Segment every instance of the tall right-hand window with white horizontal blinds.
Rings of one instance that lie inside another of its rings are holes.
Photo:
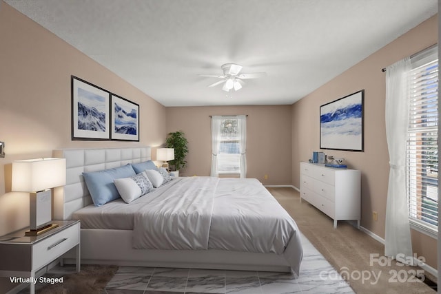
[[[438,232],[438,50],[411,58],[407,194],[414,228]]]

